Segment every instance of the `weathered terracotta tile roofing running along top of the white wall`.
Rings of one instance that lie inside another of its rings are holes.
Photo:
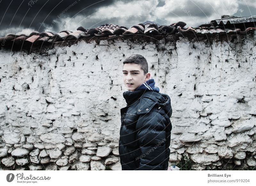
[[[241,21],[244,21],[241,23]],[[212,34],[246,34],[248,31],[256,30],[256,18],[236,18],[225,17],[223,19],[212,20],[210,24],[200,25],[199,27],[186,27],[186,23],[178,21],[171,25],[160,25],[145,22],[145,25],[140,23],[128,28],[125,26],[118,26],[116,24],[104,24],[99,27],[90,28],[78,27],[76,31],[63,30],[59,33],[53,32],[32,32],[31,34],[14,35],[9,34],[5,37],[0,37],[0,43],[5,43],[4,46],[24,47],[28,45],[34,47],[43,43],[53,43],[57,41],[80,40],[86,37],[132,37],[132,35],[212,35]],[[29,44],[30,43],[30,44]]]

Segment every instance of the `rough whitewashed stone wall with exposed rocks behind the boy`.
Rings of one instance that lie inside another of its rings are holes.
[[[171,97],[170,165],[186,155],[197,170],[255,166],[255,33],[198,40],[79,41],[29,55],[4,50],[1,169],[121,169],[122,61],[136,53]]]

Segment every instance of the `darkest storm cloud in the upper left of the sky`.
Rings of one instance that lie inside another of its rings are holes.
[[[73,17],[78,12],[79,15],[88,16],[97,8],[113,2],[114,0],[1,0],[0,29],[22,26],[42,32],[58,16]]]

